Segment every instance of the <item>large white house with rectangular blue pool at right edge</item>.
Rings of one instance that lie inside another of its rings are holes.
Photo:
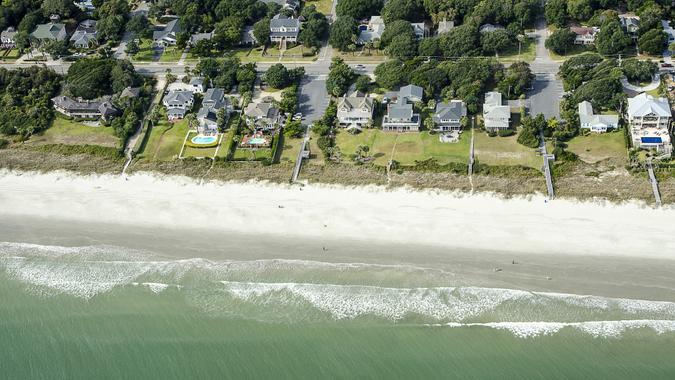
[[[629,98],[628,124],[633,146],[672,153],[670,118],[670,104],[666,98],[655,98],[647,93]]]

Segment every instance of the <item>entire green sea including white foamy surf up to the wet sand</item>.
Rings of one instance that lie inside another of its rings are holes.
[[[668,302],[444,287],[404,266],[0,252],[6,379],[675,378]]]

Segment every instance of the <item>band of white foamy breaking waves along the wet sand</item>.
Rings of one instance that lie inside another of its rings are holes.
[[[0,275],[41,296],[90,299],[136,289],[156,297],[182,297],[206,313],[269,322],[375,320],[485,327],[521,338],[568,329],[595,337],[641,328],[675,332],[672,302],[436,286],[453,284],[454,275],[405,265],[169,260],[122,247],[0,243]]]

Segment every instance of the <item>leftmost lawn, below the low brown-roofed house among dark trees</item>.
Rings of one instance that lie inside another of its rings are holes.
[[[111,127],[93,127],[80,122],[56,117],[52,126],[40,135],[31,137],[31,143],[101,145],[116,147],[119,139]]]

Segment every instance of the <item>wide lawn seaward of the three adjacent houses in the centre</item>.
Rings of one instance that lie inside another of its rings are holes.
[[[367,145],[375,164],[386,165],[392,158],[402,165],[414,165],[415,161],[435,158],[439,164],[467,162],[471,135],[462,133],[458,143],[441,143],[437,134],[389,133],[379,129],[366,129],[358,135],[340,131],[336,143],[345,159],[355,154],[359,145]]]

